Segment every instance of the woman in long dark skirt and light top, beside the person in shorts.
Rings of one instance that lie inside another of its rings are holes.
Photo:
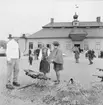
[[[39,71],[44,73],[45,76],[46,76],[46,73],[50,72],[50,64],[48,62],[47,48],[43,48],[42,49],[42,59],[40,61]]]

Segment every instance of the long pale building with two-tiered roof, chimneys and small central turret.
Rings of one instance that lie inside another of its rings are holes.
[[[72,22],[54,22],[51,18],[50,23],[40,31],[28,37],[23,35],[19,44],[21,51],[27,52],[29,48],[36,49],[40,43],[49,44],[52,48],[55,40],[60,43],[60,48],[66,54],[71,52],[74,46],[99,52],[103,50],[103,22],[100,17],[97,17],[96,21],[79,21],[76,13]]]

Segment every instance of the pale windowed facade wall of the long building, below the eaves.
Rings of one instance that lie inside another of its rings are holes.
[[[28,39],[27,42],[25,39],[19,40],[20,51],[22,53],[28,53],[29,42],[33,42],[34,51],[38,47],[38,43],[51,44],[53,50],[53,41],[58,41],[60,43],[60,49],[66,55],[71,54],[74,42],[71,39]],[[76,42],[75,42],[76,43]],[[78,43],[77,43],[78,44]],[[89,49],[93,49],[96,52],[96,55],[99,54],[100,50],[103,50],[103,39],[84,39],[80,42],[80,46],[84,49],[85,45],[88,45]],[[24,52],[25,51],[25,52]]]

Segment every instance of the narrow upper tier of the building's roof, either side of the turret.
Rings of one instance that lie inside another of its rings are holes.
[[[103,26],[103,22],[79,22],[78,27],[95,27],[95,26]],[[49,28],[49,27],[73,27],[72,22],[54,22],[54,23],[49,23],[43,28]]]

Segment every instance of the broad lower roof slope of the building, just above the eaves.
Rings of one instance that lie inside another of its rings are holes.
[[[73,28],[44,28],[27,38],[67,38],[72,29]],[[78,32],[81,31],[81,29],[82,28],[77,28]],[[81,32],[86,32],[86,37],[103,37],[103,28],[84,28]]]

